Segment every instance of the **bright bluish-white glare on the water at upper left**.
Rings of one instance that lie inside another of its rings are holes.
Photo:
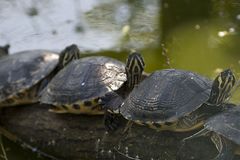
[[[79,44],[87,49],[108,48],[113,45],[116,33],[103,33],[98,30],[86,29],[81,18],[85,10],[77,11],[77,5],[88,3],[75,3],[75,1],[41,1],[33,5],[33,1],[6,2],[0,16],[2,31],[0,43],[10,43],[11,51],[24,49],[60,49],[71,43]],[[88,9],[92,5],[87,5]],[[37,15],[30,10],[35,8]],[[83,7],[80,7],[83,8]],[[84,33],[76,33],[75,26],[82,25]],[[98,36],[96,36],[98,35]]]

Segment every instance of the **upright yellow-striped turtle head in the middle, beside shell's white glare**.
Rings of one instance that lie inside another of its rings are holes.
[[[137,53],[136,51],[132,51],[127,58],[125,67],[127,74],[127,84],[129,88],[133,88],[141,81],[144,66],[145,63],[141,54]]]

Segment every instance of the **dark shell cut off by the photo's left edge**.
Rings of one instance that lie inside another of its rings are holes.
[[[47,50],[31,50],[0,59],[0,102],[31,88],[51,73],[59,55]]]

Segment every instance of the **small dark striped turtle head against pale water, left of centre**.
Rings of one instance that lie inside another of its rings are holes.
[[[67,64],[69,64],[71,61],[79,59],[80,58],[80,51],[77,47],[77,45],[72,44],[70,46],[67,46],[61,53],[59,57],[59,69],[62,69]]]

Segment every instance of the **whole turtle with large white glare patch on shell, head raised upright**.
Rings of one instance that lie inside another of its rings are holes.
[[[60,71],[44,89],[40,102],[54,107],[50,112],[100,115],[99,99],[109,92],[122,96],[141,80],[142,56],[134,51],[126,65],[105,56],[90,56],[72,62]],[[135,81],[132,81],[134,77]]]

